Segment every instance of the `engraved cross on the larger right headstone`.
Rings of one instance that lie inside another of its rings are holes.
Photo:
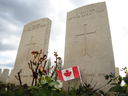
[[[84,36],[84,48],[83,48],[83,50],[84,50],[84,56],[85,55],[88,55],[87,54],[87,35],[89,35],[89,34],[93,34],[93,33],[96,33],[96,31],[91,31],[91,32],[89,32],[88,31],[88,29],[87,29],[87,24],[84,24],[84,31],[83,31],[83,33],[80,33],[80,34],[77,34],[76,35],[76,37],[78,37],[78,36]]]

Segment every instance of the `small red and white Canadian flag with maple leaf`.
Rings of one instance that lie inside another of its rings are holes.
[[[59,70],[59,71],[57,71],[57,74],[61,81],[67,81],[67,80],[71,80],[71,79],[80,77],[80,72],[79,72],[78,66],[68,68],[68,69]]]

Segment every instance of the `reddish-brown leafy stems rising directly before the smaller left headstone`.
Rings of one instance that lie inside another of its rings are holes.
[[[46,69],[45,69],[45,66],[47,63],[47,55],[44,54],[42,50],[40,50],[40,52],[32,51],[31,54],[34,55],[34,59],[30,60],[30,62],[28,63],[29,68],[32,71],[32,76],[33,76],[31,85],[33,86],[33,83],[35,81],[35,86],[37,86],[38,75],[40,77],[42,77],[42,75],[47,74]],[[41,57],[41,55],[43,55],[43,56]],[[44,61],[44,65],[43,65],[43,61]],[[35,67],[33,67],[33,66],[35,66]],[[43,68],[42,71],[45,74],[42,73],[41,68]]]

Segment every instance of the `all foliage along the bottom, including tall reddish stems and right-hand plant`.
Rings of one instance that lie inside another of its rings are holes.
[[[0,83],[0,96],[113,96],[100,90],[104,86],[95,89],[97,82],[91,86],[92,80],[90,84],[82,81],[77,89],[75,84],[68,92],[55,88],[55,85],[59,85],[56,71],[62,68],[62,61],[61,58],[58,57],[57,52],[54,52],[56,60],[54,61],[55,66],[52,67],[50,62],[47,63],[48,54],[44,54],[42,50],[40,50],[40,52],[33,51],[32,54],[34,55],[34,59],[28,63],[29,68],[32,70],[32,85],[30,87],[28,87],[27,84],[22,85],[20,70],[18,77],[15,76],[19,80],[20,85],[15,86],[10,83]],[[114,96],[128,96],[127,67],[122,68],[122,71],[126,73],[125,77],[121,77],[120,75],[115,76],[115,73],[110,73],[105,76],[105,79],[109,80],[107,84],[112,85],[108,92],[115,92]],[[123,81],[125,84],[121,86]],[[33,86],[34,82],[35,86]]]

